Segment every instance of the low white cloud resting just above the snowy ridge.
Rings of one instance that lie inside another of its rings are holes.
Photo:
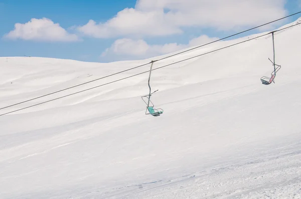
[[[197,38],[193,38],[188,44],[167,43],[163,45],[150,45],[142,39],[130,39],[122,38],[117,39],[109,48],[107,48],[101,56],[126,56],[127,58],[146,58],[152,56],[158,56],[162,54],[168,54],[177,50],[181,50],[196,45],[208,43],[210,41],[217,40],[216,37],[208,37],[207,35],[201,35]]]

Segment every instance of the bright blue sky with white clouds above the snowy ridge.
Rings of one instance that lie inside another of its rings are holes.
[[[0,0],[0,56],[97,62],[140,59],[199,45],[301,10],[301,0],[203,1]],[[16,23],[20,23],[17,29]]]

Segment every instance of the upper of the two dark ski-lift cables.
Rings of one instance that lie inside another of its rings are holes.
[[[244,30],[244,31],[235,33],[235,34],[232,34],[232,35],[230,35],[230,36],[226,36],[226,37],[224,37],[224,38],[221,38],[221,39],[218,39],[218,40],[215,40],[215,41],[212,41],[212,42],[203,44],[203,45],[199,45],[199,46],[197,46],[197,47],[194,47],[194,48],[191,48],[191,49],[188,49],[188,50],[184,50],[184,51],[182,51],[182,52],[178,52],[178,53],[175,53],[175,54],[172,54],[172,55],[163,57],[163,58],[158,59],[158,60],[156,60],[156,61],[160,61],[160,60],[163,60],[163,59],[166,59],[166,58],[170,58],[170,57],[173,57],[173,56],[182,54],[182,53],[184,53],[184,52],[188,52],[188,51],[190,51],[190,50],[197,49],[197,48],[203,47],[203,46],[205,46],[205,45],[209,45],[209,44],[212,44],[212,43],[214,43],[214,42],[217,42],[217,41],[220,41],[220,40],[223,40],[223,39],[232,37],[232,36],[236,36],[236,35],[238,35],[238,34],[241,34],[241,33],[244,33],[244,32],[247,32],[247,31],[250,31],[250,30],[253,30],[253,29],[256,29],[256,28],[258,28],[258,27],[262,27],[262,26],[264,26],[264,25],[267,25],[267,24],[270,24],[270,23],[273,23],[273,22],[282,20],[282,19],[284,19],[284,18],[293,16],[293,15],[296,15],[296,14],[299,14],[299,13],[301,13],[301,11],[298,11],[298,12],[295,12],[295,13],[293,13],[293,14],[284,16],[284,17],[282,17],[282,18],[278,18],[278,19],[276,19],[276,20],[273,20],[273,21],[264,23],[264,24],[262,24],[262,25],[258,25],[258,26],[253,27],[253,28],[250,28],[250,29],[247,29],[247,30]],[[152,61],[151,61],[151,62],[152,62]],[[5,108],[8,108],[8,107],[15,106],[15,105],[19,105],[19,104],[21,104],[21,103],[25,103],[25,102],[28,102],[28,101],[32,101],[32,100],[34,100],[34,99],[42,98],[42,97],[45,97],[45,96],[48,96],[48,95],[51,95],[51,94],[55,94],[55,93],[58,93],[58,92],[62,92],[62,91],[64,91],[64,90],[68,90],[68,89],[71,89],[71,88],[74,88],[74,87],[77,87],[77,86],[80,86],[80,85],[84,85],[84,84],[87,84],[87,83],[91,83],[91,82],[93,82],[93,81],[97,81],[97,80],[100,80],[100,79],[103,79],[103,78],[106,78],[106,77],[109,77],[109,76],[113,76],[113,75],[116,75],[116,74],[119,74],[119,73],[122,73],[122,72],[125,72],[125,71],[129,71],[129,70],[138,68],[138,67],[142,67],[142,66],[147,65],[147,64],[149,64],[149,63],[151,63],[151,62],[144,63],[144,64],[141,64],[141,65],[132,67],[132,68],[128,68],[128,69],[126,69],[126,70],[122,70],[122,71],[119,71],[119,72],[116,72],[116,73],[113,73],[113,74],[110,74],[110,75],[106,75],[106,76],[103,76],[103,77],[100,77],[100,78],[97,78],[97,79],[93,79],[93,80],[90,80],[90,81],[87,81],[87,82],[84,82],[84,83],[80,83],[80,84],[77,84],[77,85],[74,85],[74,86],[71,86],[71,87],[67,87],[67,88],[64,88],[64,89],[61,89],[61,90],[58,90],[58,91],[55,91],[55,92],[51,92],[51,93],[44,94],[44,95],[41,95],[41,96],[38,96],[38,97],[35,97],[35,98],[31,98],[31,99],[28,99],[28,100],[25,100],[25,101],[21,101],[21,102],[12,104],[12,105],[8,105],[8,106],[5,106],[5,107],[0,108],[0,110],[1,110],[1,109],[5,109]],[[1,115],[0,115],[0,116],[1,116]]]

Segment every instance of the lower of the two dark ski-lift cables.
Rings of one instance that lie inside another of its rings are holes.
[[[287,29],[287,28],[290,28],[290,27],[293,27],[293,26],[299,25],[299,24],[301,24],[301,23],[296,23],[296,24],[293,24],[293,25],[290,25],[290,26],[288,26],[288,27],[284,27],[284,28],[281,28],[281,29],[278,29],[278,30],[275,30],[275,31],[272,31],[272,32],[281,31],[281,30],[284,30],[284,29]],[[250,40],[254,40],[254,39],[256,39],[256,38],[260,38],[260,37],[266,36],[266,35],[268,35],[268,34],[270,34],[270,33],[271,33],[271,32],[268,32],[268,33],[266,33],[266,34],[263,34],[263,35],[260,35],[260,36],[256,36],[256,37],[254,37],[254,38],[250,38],[250,39],[247,39],[247,40],[238,42],[238,43],[234,43],[234,44],[232,44],[232,45],[228,45],[228,46],[225,46],[225,47],[222,47],[222,48],[219,48],[219,49],[215,49],[215,50],[212,50],[212,51],[203,53],[203,54],[199,54],[199,55],[196,55],[196,56],[193,56],[193,57],[190,57],[190,58],[186,58],[186,59],[183,59],[183,60],[174,62],[174,63],[170,63],[170,64],[167,64],[167,65],[163,65],[163,66],[157,67],[157,68],[152,69],[152,70],[157,70],[157,69],[160,69],[160,68],[163,68],[163,67],[167,67],[167,66],[170,66],[170,65],[173,65],[173,64],[176,64],[176,63],[180,63],[180,62],[183,62],[183,61],[187,61],[187,60],[189,60],[189,59],[193,59],[193,58],[196,58],[196,57],[205,55],[205,54],[209,54],[209,53],[212,53],[212,52],[216,52],[216,51],[225,49],[225,48],[227,48],[227,47],[231,47],[231,46],[238,45],[238,44],[241,44],[241,43],[250,41]],[[94,87],[91,87],[91,88],[87,88],[87,89],[84,89],[84,90],[81,90],[81,91],[78,91],[78,92],[74,92],[74,93],[71,93],[71,94],[67,94],[67,95],[64,95],[64,96],[61,96],[61,97],[57,97],[57,98],[54,98],[54,99],[50,99],[50,100],[48,100],[48,101],[44,101],[44,102],[41,102],[41,103],[37,103],[37,104],[31,105],[31,106],[27,106],[27,107],[24,107],[24,108],[20,108],[20,109],[17,109],[17,110],[13,110],[13,111],[10,111],[10,112],[6,112],[6,113],[3,113],[3,114],[0,114],[0,116],[6,115],[6,114],[9,114],[9,113],[12,113],[12,112],[17,112],[17,111],[20,111],[20,110],[23,110],[23,109],[26,109],[26,108],[30,108],[30,107],[33,107],[33,106],[37,106],[37,105],[40,105],[40,104],[43,104],[43,103],[47,103],[47,102],[50,102],[50,101],[54,101],[54,100],[57,100],[57,99],[61,99],[61,98],[64,98],[64,97],[67,97],[67,96],[71,96],[71,95],[74,95],[74,94],[77,94],[77,93],[80,93],[80,92],[84,92],[84,91],[91,90],[91,89],[94,89],[94,88],[97,88],[97,87],[101,87],[101,86],[104,86],[104,85],[107,85],[107,84],[110,84],[110,83],[114,83],[114,82],[117,82],[117,81],[121,81],[121,80],[124,80],[124,79],[127,79],[127,78],[131,78],[131,77],[134,77],[134,76],[137,76],[137,75],[146,73],[146,72],[149,72],[149,70],[144,71],[144,72],[140,72],[140,73],[137,73],[137,74],[133,74],[133,75],[130,75],[130,76],[121,78],[121,79],[117,79],[117,80],[114,80],[114,81],[110,81],[110,82],[108,82],[108,83],[104,83],[104,84],[101,84],[101,85],[97,85],[97,86],[94,86]]]

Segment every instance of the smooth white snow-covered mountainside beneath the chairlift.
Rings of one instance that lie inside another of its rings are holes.
[[[159,117],[144,114],[148,73],[0,116],[0,198],[301,198],[300,33],[275,34],[275,84],[260,81],[273,69],[271,35],[154,70]],[[0,57],[0,108],[150,60]]]

